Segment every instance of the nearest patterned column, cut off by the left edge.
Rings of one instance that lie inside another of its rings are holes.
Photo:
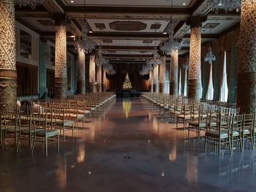
[[[17,99],[14,1],[0,1],[0,107],[13,106]]]

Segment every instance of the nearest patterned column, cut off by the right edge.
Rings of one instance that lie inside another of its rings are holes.
[[[256,110],[256,1],[242,1],[237,104],[241,112]]]

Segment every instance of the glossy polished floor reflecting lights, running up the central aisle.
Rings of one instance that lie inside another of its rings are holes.
[[[117,99],[84,128],[61,140],[61,151],[42,147],[29,154],[7,144],[0,152],[0,191],[256,191],[256,157],[251,149],[233,155],[159,115],[143,99]]]

